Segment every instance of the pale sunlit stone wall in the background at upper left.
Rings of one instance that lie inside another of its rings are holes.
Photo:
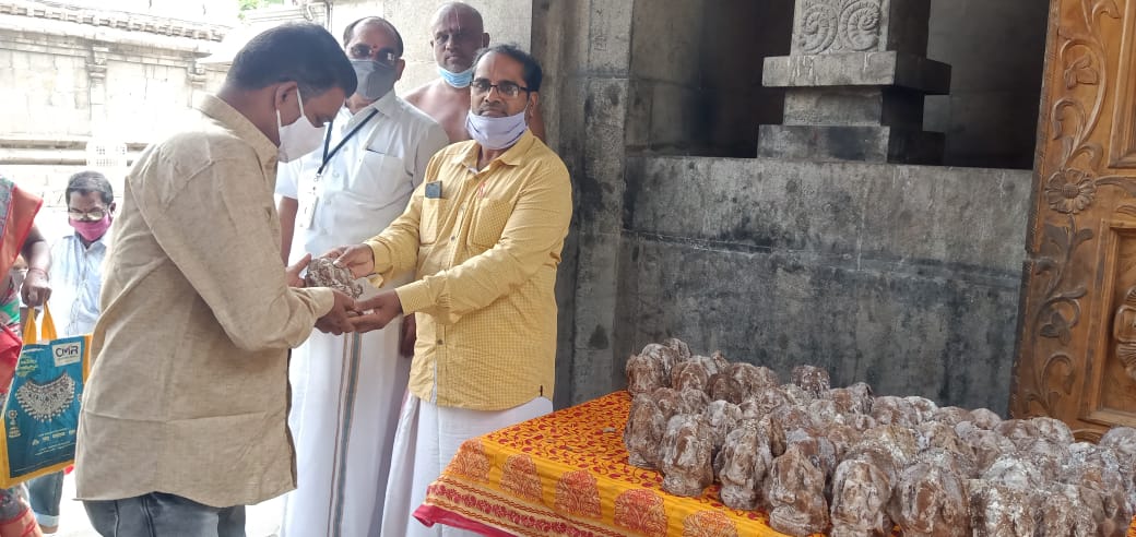
[[[145,25],[151,31],[131,30]],[[136,153],[189,110],[195,92],[220,86],[224,72],[198,59],[223,32],[137,14],[0,5],[0,169],[42,195],[45,215],[65,205],[67,178],[87,168],[89,141]],[[120,188],[125,169],[103,171]]]

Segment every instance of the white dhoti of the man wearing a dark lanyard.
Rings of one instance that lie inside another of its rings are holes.
[[[282,537],[379,535],[410,374],[400,332],[392,322],[361,335],[312,333],[292,352],[298,488],[285,496]]]

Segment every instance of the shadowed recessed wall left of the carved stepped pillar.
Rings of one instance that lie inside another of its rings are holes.
[[[761,58],[788,52],[792,19],[792,0],[637,2],[628,150],[752,156],[784,97],[762,87]]]

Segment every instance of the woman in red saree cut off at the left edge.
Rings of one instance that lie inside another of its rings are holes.
[[[0,356],[0,394],[3,396],[0,404],[11,386],[23,341],[18,335],[20,296],[28,307],[35,307],[51,294],[47,272],[48,244],[34,224],[42,204],[39,196],[0,175],[0,349],[7,350]],[[27,261],[27,276],[17,286],[11,268],[20,253]],[[20,488],[0,489],[0,537],[42,535]]]

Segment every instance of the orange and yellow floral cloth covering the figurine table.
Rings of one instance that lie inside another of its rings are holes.
[[[488,536],[784,535],[765,513],[722,505],[717,485],[674,496],[659,472],[627,464],[629,410],[630,396],[617,392],[470,439],[415,517]]]

